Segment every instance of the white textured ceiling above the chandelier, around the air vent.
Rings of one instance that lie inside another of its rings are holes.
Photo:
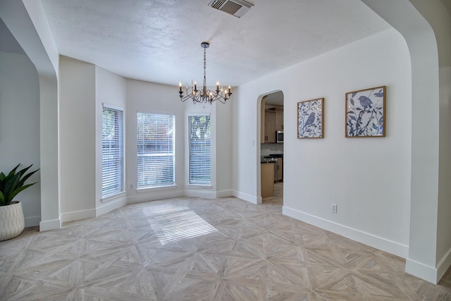
[[[241,85],[390,27],[360,0],[248,0],[235,18],[210,0],[42,0],[61,54],[126,78]]]

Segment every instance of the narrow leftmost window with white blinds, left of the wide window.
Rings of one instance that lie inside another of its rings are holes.
[[[124,189],[123,111],[105,106],[101,129],[101,195],[116,195]]]

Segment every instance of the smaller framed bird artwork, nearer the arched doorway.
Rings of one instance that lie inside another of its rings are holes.
[[[323,98],[297,103],[297,139],[323,137],[323,104]]]

